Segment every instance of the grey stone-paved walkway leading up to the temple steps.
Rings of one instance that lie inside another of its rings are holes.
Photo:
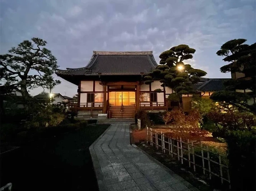
[[[91,146],[100,191],[197,191],[130,145],[129,123],[111,125]]]

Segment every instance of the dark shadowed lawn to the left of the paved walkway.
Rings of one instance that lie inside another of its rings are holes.
[[[97,190],[89,146],[107,127],[88,125],[1,154],[1,187],[11,182],[12,191]]]

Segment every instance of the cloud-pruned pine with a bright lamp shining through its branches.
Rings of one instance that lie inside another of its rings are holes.
[[[183,108],[182,94],[195,92],[192,84],[200,81],[199,77],[207,73],[203,70],[194,69],[191,65],[183,63],[184,60],[193,58],[195,49],[188,45],[181,44],[172,47],[170,50],[162,52],[159,56],[160,65],[155,68],[148,76],[145,76],[145,84],[150,84],[154,80],[160,80],[162,87],[170,87],[175,93],[171,94],[170,99],[178,100],[180,109]],[[161,89],[156,89],[159,92]]]

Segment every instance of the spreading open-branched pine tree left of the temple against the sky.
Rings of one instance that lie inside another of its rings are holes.
[[[28,89],[51,89],[60,83],[52,77],[58,65],[51,51],[43,48],[46,41],[39,38],[31,40],[24,40],[18,47],[13,47],[10,54],[0,55],[1,78],[6,81],[5,86],[21,92],[24,99],[30,97]]]

